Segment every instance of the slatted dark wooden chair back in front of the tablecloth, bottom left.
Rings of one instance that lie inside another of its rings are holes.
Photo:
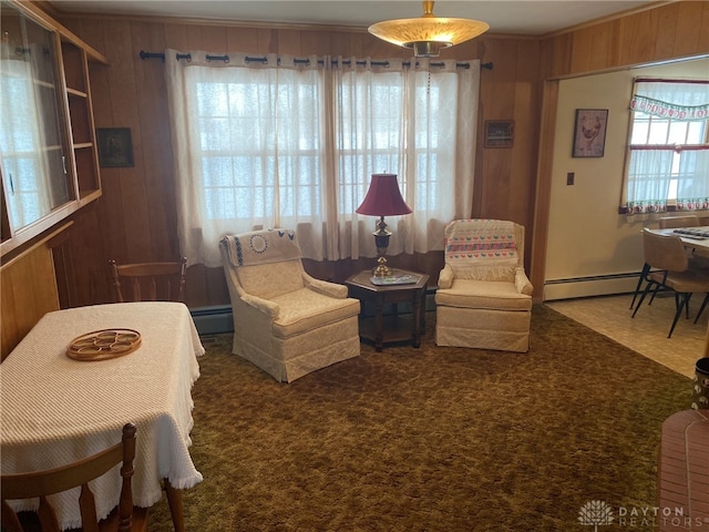
[[[100,529],[96,505],[93,492],[89,488],[89,482],[97,479],[120,463],[122,464],[122,485],[117,510],[117,530],[120,532],[130,531],[133,516],[132,477],[133,460],[135,459],[135,431],[133,423],[126,423],[123,427],[123,436],[120,443],[61,468],[31,473],[3,474],[0,478],[3,530],[22,532],[20,519],[7,501],[39,497],[38,514],[42,532],[59,532],[61,529],[56,513],[50,504],[48,495],[81,487],[79,507],[81,509],[82,530],[84,532],[97,532]]]

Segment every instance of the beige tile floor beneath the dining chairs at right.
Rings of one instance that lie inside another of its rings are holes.
[[[647,301],[631,318],[633,295],[588,297],[545,301],[549,308],[597,330],[619,344],[689,378],[695,376],[695,364],[706,349],[709,307],[697,325],[695,316],[701,297],[690,303],[689,319],[680,318],[671,338],[667,338],[675,315],[675,299],[664,295]]]

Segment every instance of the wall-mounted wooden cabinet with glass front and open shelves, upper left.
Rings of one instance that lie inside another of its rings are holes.
[[[9,31],[12,39],[18,42],[30,39],[48,51],[33,58],[28,68],[31,69],[29,82],[39,99],[38,108],[48,110],[41,115],[42,143],[35,150],[49,172],[28,178],[47,183],[47,191],[37,194],[49,197],[50,205],[37,218],[22,217],[19,209],[13,216],[12,201],[6,194],[10,191],[6,191],[3,184],[0,257],[6,260],[25,253],[30,242],[101,196],[89,62],[93,69],[93,63],[103,65],[107,61],[33,2],[3,0],[1,14],[3,30]],[[3,154],[6,162],[12,156],[18,158],[23,154]]]

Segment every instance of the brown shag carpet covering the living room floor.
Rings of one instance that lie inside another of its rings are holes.
[[[362,345],[290,385],[204,338],[187,530],[584,532],[590,500],[656,505],[689,379],[545,306],[524,355],[436,347],[434,319],[420,349]],[[168,515],[163,499],[150,530]]]

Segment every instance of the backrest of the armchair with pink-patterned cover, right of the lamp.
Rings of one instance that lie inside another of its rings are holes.
[[[456,277],[511,280],[524,267],[524,227],[505,219],[456,219],[445,227],[444,253]]]

